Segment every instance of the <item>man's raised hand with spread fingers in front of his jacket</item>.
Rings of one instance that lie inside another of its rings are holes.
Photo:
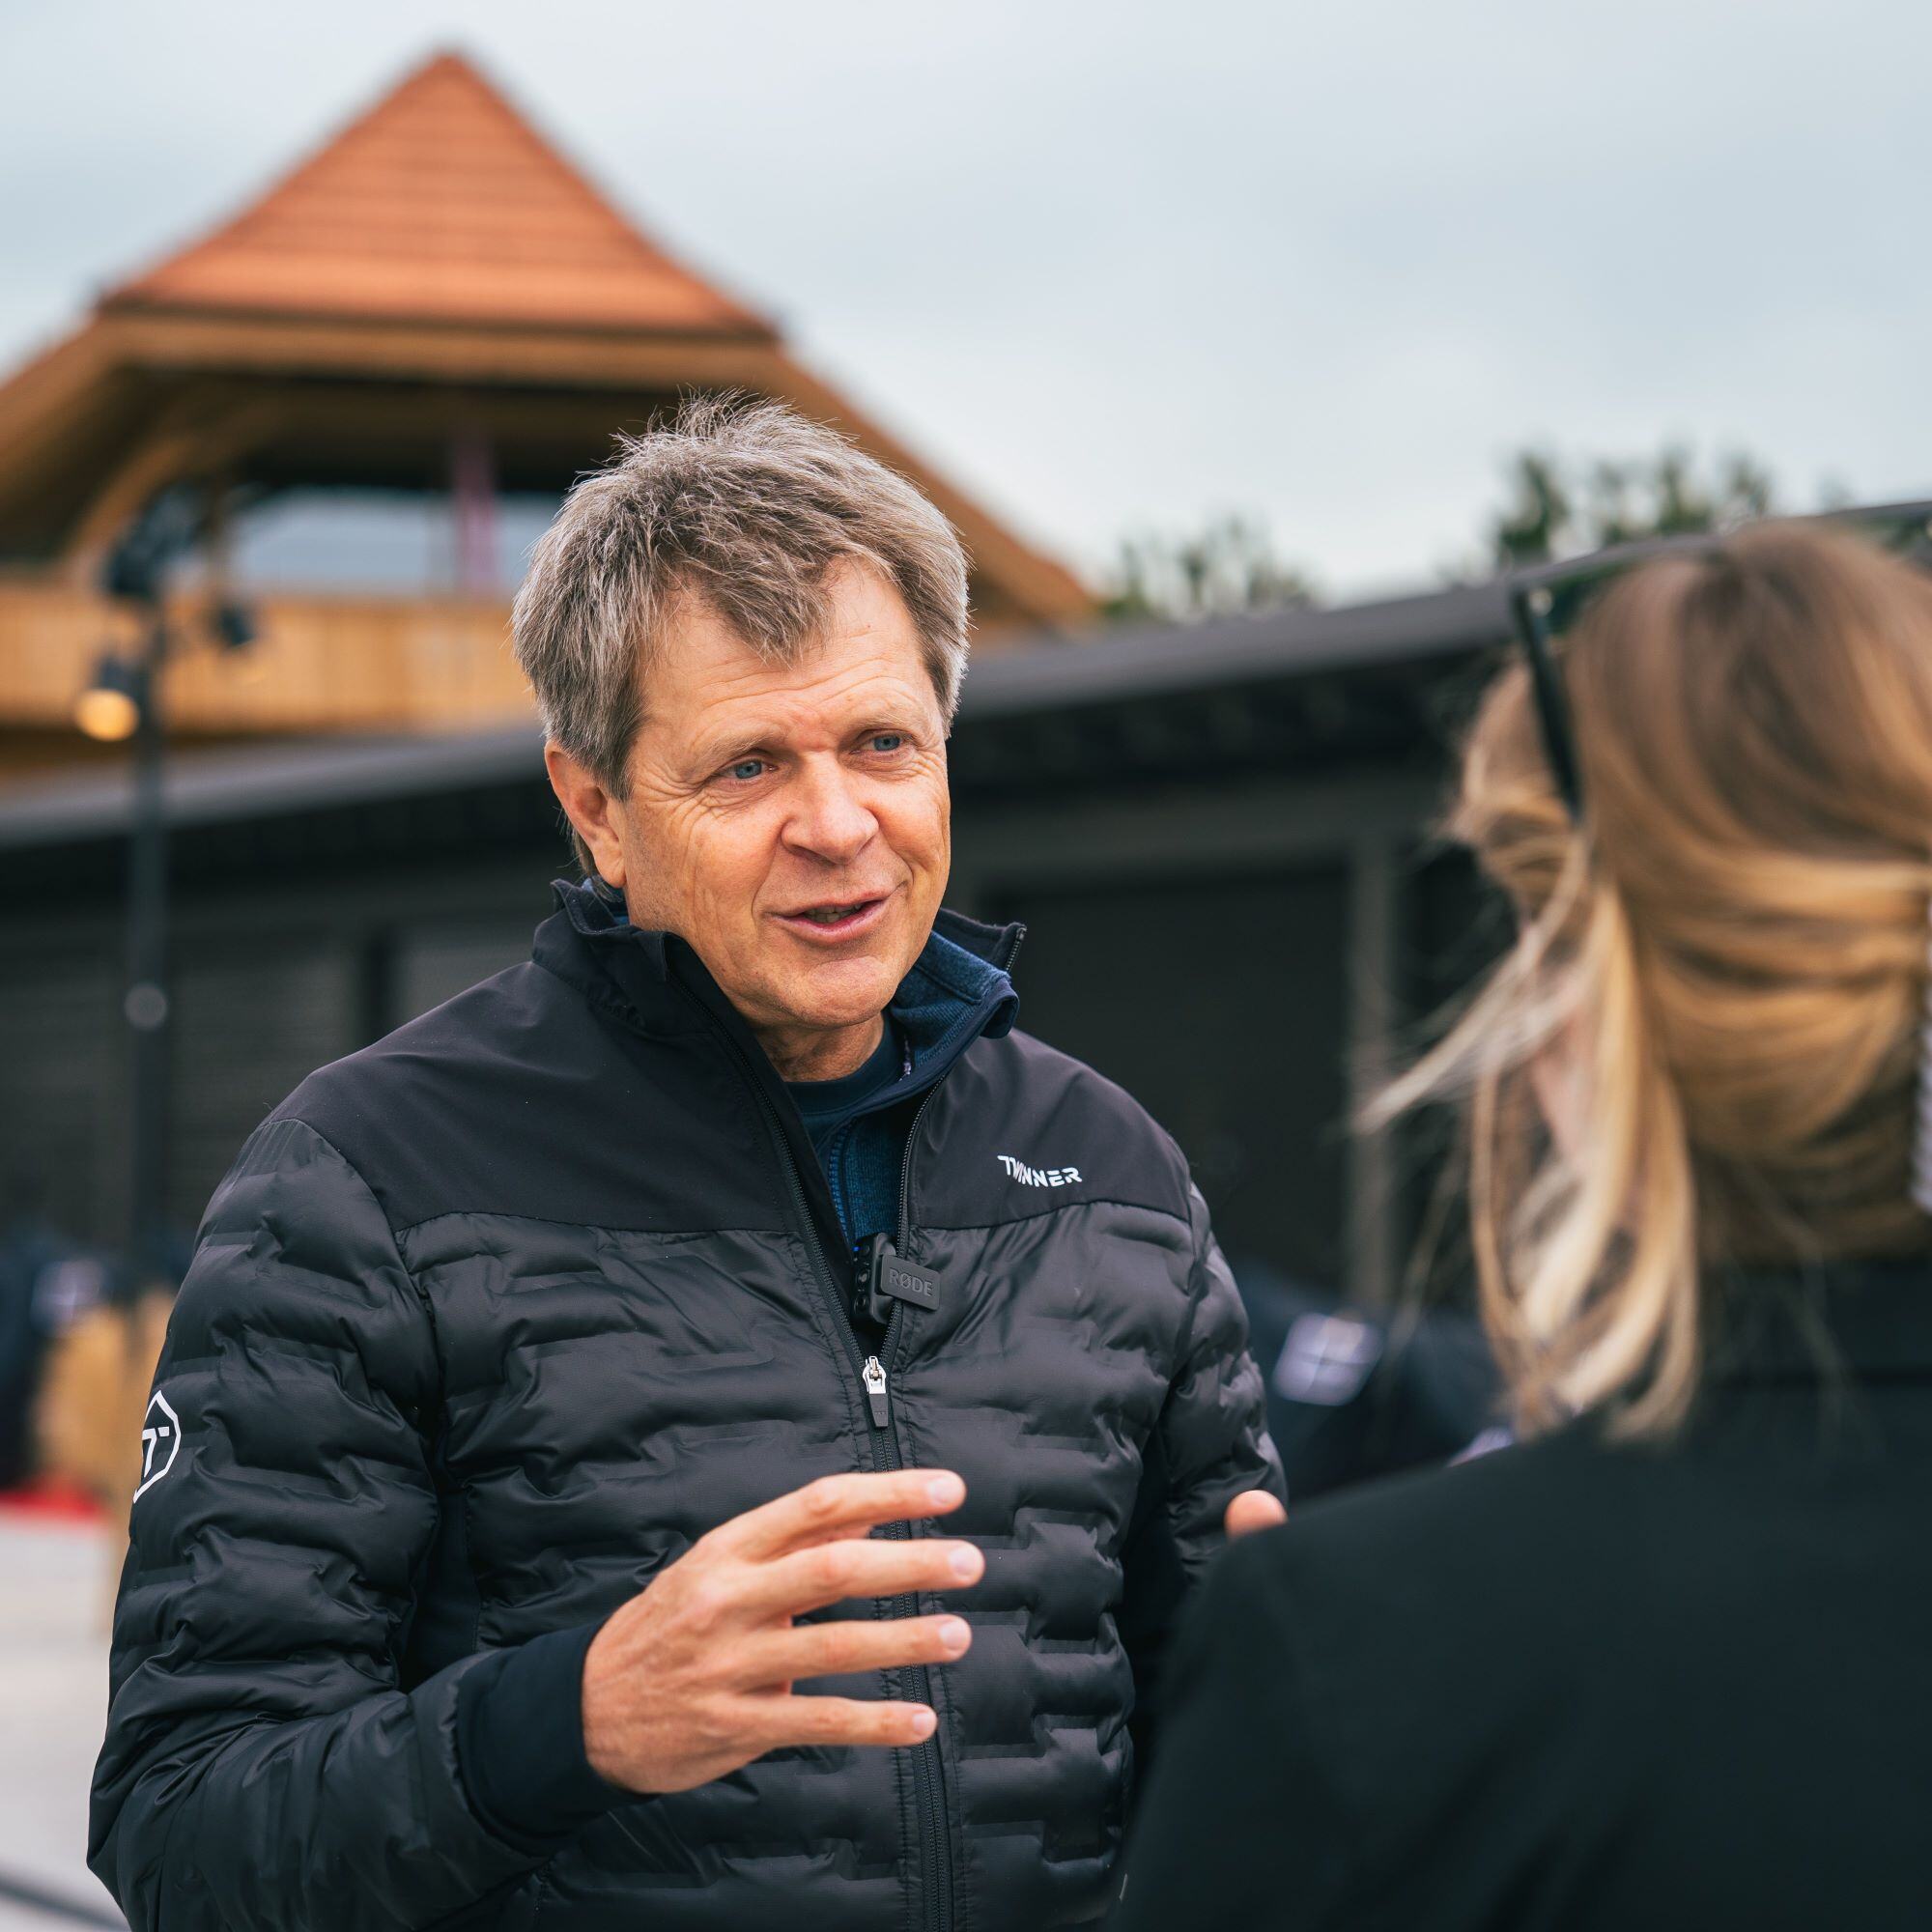
[[[632,1791],[688,1791],[784,1745],[916,1745],[925,1704],[794,1696],[802,1677],[947,1663],[960,1617],[794,1625],[846,1598],[958,1590],[985,1557],[966,1542],[887,1542],[879,1522],[966,1499],[945,1470],[821,1476],[701,1536],[597,1633],[583,1660],[583,1748]]]

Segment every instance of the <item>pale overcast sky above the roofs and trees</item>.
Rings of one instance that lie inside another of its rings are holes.
[[[0,0],[0,357],[442,44],[1088,572],[1424,583],[1532,440],[1932,495],[1924,0]]]

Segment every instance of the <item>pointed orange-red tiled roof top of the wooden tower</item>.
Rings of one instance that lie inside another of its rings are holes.
[[[769,334],[667,257],[460,54],[106,307]]]

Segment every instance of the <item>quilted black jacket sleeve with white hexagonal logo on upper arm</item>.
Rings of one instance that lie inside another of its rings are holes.
[[[535,1859],[454,1754],[468,1658],[396,1658],[437,1519],[427,1304],[381,1204],[299,1121],[242,1151],[156,1374],[114,1615],[89,1862],[135,1932],[487,1922]]]

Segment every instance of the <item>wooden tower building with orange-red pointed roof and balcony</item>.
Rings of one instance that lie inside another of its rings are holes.
[[[0,384],[0,771],[85,753],[99,562],[170,485],[214,506],[184,599],[238,583],[261,622],[245,657],[170,667],[178,734],[527,717],[504,647],[527,541],[616,431],[688,390],[782,398],[918,481],[972,553],[991,647],[1088,616],[1068,570],[444,52]]]

